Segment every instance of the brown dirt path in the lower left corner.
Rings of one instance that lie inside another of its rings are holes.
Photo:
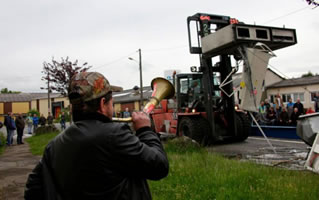
[[[30,153],[26,142],[5,149],[0,156],[0,200],[24,199],[24,186],[28,174],[40,158]]]

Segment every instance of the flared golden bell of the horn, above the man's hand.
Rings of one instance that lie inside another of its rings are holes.
[[[148,114],[151,113],[163,99],[170,99],[174,97],[175,94],[173,84],[164,78],[154,78],[151,82],[151,86],[153,90],[151,99],[143,109],[143,111]]]

